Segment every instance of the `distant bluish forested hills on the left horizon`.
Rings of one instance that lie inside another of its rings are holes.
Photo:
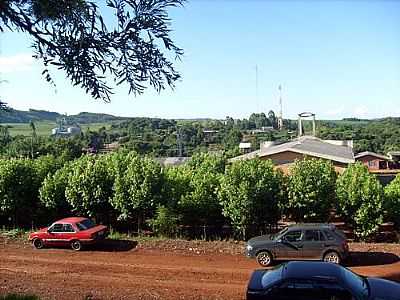
[[[57,112],[46,110],[30,109],[29,111],[11,109],[10,111],[0,110],[0,123],[28,123],[30,121],[53,121],[66,118],[72,123],[103,123],[117,120],[127,120],[128,118],[116,117],[108,114],[98,114],[81,112],[77,115],[65,116]]]

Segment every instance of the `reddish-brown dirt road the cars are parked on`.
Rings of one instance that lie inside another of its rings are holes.
[[[350,267],[400,281],[400,245],[353,244]],[[126,250],[126,249],[125,249]],[[0,244],[0,294],[43,299],[243,299],[253,260],[133,247],[128,251],[34,250]]]

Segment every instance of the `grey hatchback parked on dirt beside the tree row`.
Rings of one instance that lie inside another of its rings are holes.
[[[349,255],[345,235],[331,224],[296,224],[277,234],[254,237],[246,256],[263,266],[274,260],[323,260],[339,264]]]

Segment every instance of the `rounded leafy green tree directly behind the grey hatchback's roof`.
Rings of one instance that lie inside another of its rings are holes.
[[[295,221],[326,221],[334,207],[336,173],[325,160],[297,160],[290,168],[287,202],[282,206]]]

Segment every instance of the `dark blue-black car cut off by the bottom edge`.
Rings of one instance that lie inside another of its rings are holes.
[[[247,300],[400,300],[400,284],[327,262],[291,261],[256,270]]]

